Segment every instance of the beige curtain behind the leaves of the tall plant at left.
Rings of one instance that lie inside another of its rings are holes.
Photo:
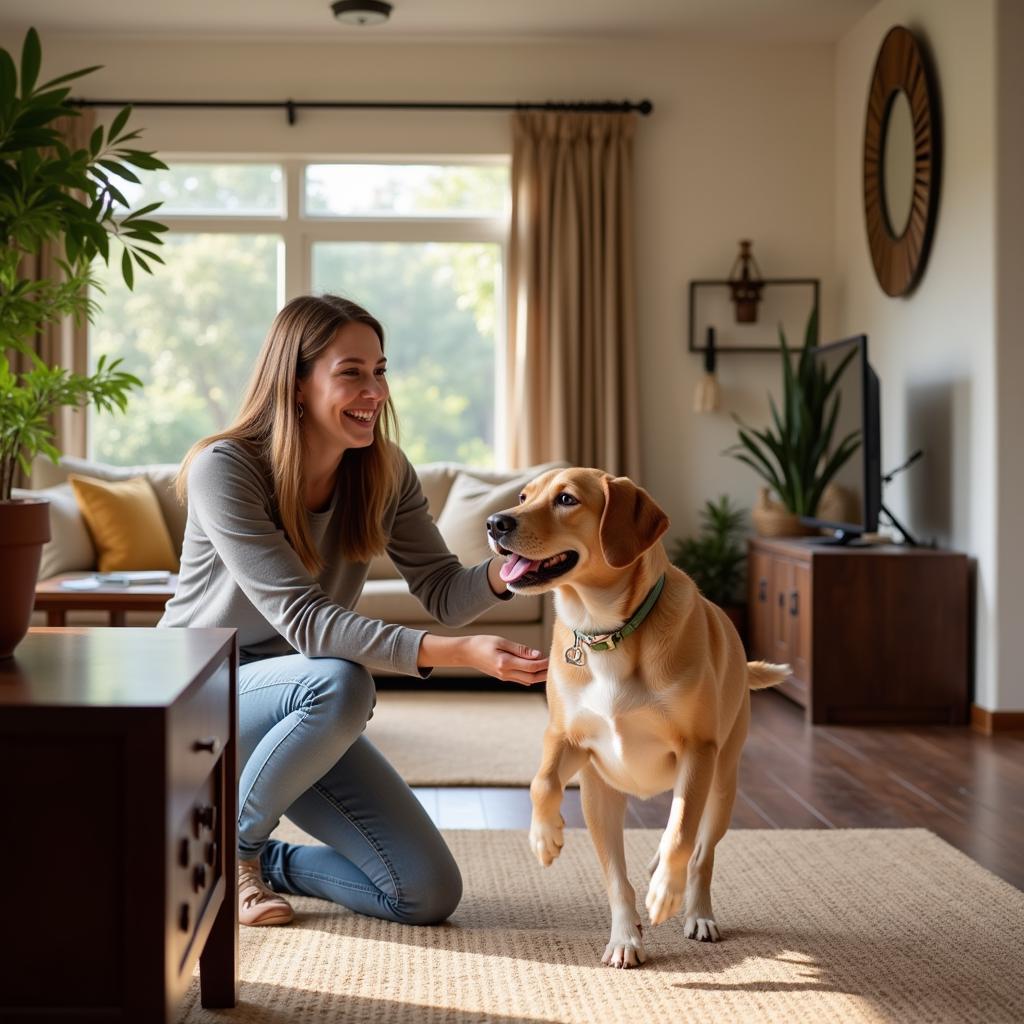
[[[83,109],[77,118],[58,119],[54,127],[63,136],[68,146],[80,150],[88,145],[89,135],[95,127],[96,116],[92,110]],[[61,273],[57,259],[62,255],[62,249],[52,245],[44,245],[35,256],[26,257],[22,262],[22,273],[25,278],[55,278]],[[88,325],[75,324],[66,316],[56,324],[50,324],[36,335],[33,348],[36,354],[50,366],[60,366],[77,374],[88,373]],[[15,372],[31,368],[31,361],[19,353],[9,353],[11,366]],[[63,455],[84,457],[86,454],[86,413],[84,410],[59,409],[53,416],[53,443]],[[20,470],[16,470],[15,486],[25,486],[26,481],[19,479]]]

